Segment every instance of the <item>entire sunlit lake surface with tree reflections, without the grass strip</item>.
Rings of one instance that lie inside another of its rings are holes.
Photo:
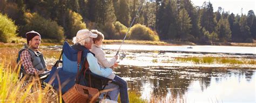
[[[104,45],[106,57],[115,55],[119,46]],[[129,90],[137,91],[142,99],[157,100],[155,102],[256,101],[256,65],[195,64],[174,59],[210,56],[255,60],[255,47],[187,47],[190,46],[123,45],[120,53],[126,57],[118,60],[119,66],[114,71],[128,82]]]

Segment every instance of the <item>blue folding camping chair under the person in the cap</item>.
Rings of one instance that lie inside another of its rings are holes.
[[[84,65],[83,57],[86,57],[86,50],[82,54],[81,65],[79,70],[82,69]],[[59,60],[53,65],[52,70],[50,71],[50,75],[47,79],[44,80],[45,83],[48,83],[53,86],[53,89],[59,90],[59,84],[61,84],[62,94],[68,91],[73,85],[75,85],[75,78],[77,76],[77,54],[78,51],[72,49],[68,42],[64,42],[62,47],[62,53],[60,54]],[[60,60],[62,58],[62,61]],[[59,63],[62,63],[62,67],[59,67]],[[82,64],[83,63],[83,64]],[[105,78],[91,71],[87,70],[85,76],[80,76],[80,85],[90,86],[89,85],[89,73],[91,75],[91,79],[93,80],[91,87],[98,89],[99,91],[104,90],[104,87],[112,81],[112,79]],[[58,75],[59,81],[56,78]],[[83,78],[85,77],[85,78]]]

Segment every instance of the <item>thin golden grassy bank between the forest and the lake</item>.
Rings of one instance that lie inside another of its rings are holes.
[[[72,44],[72,40],[66,40]],[[103,45],[119,45],[123,40],[104,40]],[[2,47],[22,47],[23,42],[20,43],[3,43],[0,42],[0,48]],[[62,45],[62,42],[56,42],[56,40],[43,39],[41,46],[54,46]],[[145,41],[145,40],[125,40],[124,44],[130,45],[159,45],[159,46],[197,46],[197,45],[211,45],[211,46],[244,46],[244,47],[256,47],[256,43],[237,43],[237,42],[212,42],[212,43],[193,43],[188,41]]]

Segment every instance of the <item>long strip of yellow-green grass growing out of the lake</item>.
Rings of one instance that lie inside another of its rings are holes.
[[[229,57],[176,57],[176,61],[193,63],[220,63],[220,64],[256,64],[256,60],[250,58],[229,58]]]

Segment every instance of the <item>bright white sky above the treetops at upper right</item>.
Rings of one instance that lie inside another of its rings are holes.
[[[191,0],[196,6],[202,6],[205,1],[212,3],[214,12],[221,7],[224,11],[230,11],[230,14],[233,12],[241,15],[241,8],[243,14],[247,15],[249,10],[253,10],[254,14],[256,14],[255,0]]]

